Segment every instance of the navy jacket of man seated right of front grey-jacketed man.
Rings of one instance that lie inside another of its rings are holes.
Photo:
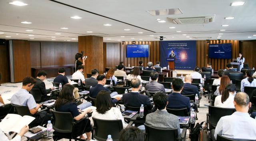
[[[168,97],[168,105],[166,107],[171,109],[182,109],[187,108],[188,112],[190,112],[190,99],[189,97],[185,97],[180,93],[171,93],[167,95]]]

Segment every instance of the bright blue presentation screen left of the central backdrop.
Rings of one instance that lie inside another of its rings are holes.
[[[126,57],[148,57],[148,45],[126,45]]]

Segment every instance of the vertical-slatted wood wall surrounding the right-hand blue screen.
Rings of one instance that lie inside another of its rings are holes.
[[[238,40],[221,40],[220,44],[224,43],[232,43],[232,58],[237,58],[239,54]],[[206,40],[196,41],[196,65],[199,67],[204,67],[208,62],[211,62],[214,70],[225,69],[226,64],[230,63],[232,59],[208,58],[209,44],[218,44],[218,40],[211,40],[210,43],[207,43]]]

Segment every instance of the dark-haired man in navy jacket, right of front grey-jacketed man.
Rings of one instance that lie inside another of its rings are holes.
[[[183,81],[180,78],[176,78],[172,81],[173,93],[168,94],[168,108],[182,109],[187,108],[190,112],[190,99],[180,94],[183,89]]]

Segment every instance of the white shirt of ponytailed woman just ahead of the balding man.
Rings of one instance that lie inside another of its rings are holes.
[[[229,93],[229,97],[228,99],[226,99],[226,101],[224,101],[223,103],[221,102],[221,96],[222,95],[218,95],[215,98],[214,101],[214,106],[215,107],[222,107],[222,108],[235,108],[234,106],[234,95],[232,95],[231,93]]]

